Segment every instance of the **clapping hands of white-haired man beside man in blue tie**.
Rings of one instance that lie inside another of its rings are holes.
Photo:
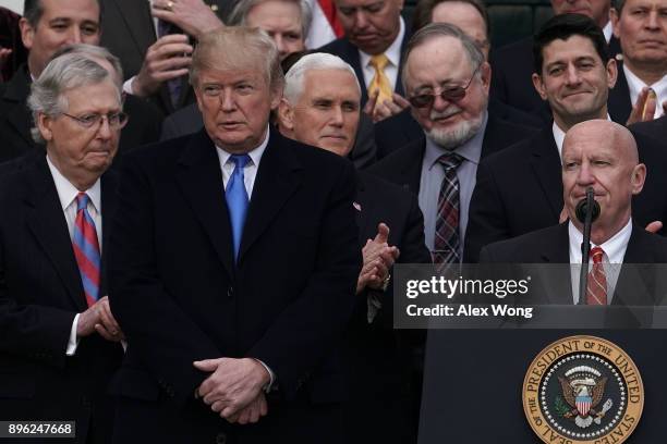
[[[356,294],[364,288],[381,289],[385,280],[389,279],[389,270],[398,259],[398,247],[389,246],[389,227],[380,222],[377,225],[375,238],[367,239],[362,248],[364,263],[356,280]]]

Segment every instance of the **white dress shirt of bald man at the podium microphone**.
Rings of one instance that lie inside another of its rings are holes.
[[[572,221],[568,223],[568,234],[570,237],[570,263],[581,264],[581,244],[583,243],[583,234],[574,226]],[[618,281],[618,274],[620,273],[621,266],[623,264],[623,257],[628,249],[628,243],[630,242],[630,235],[632,234],[632,219],[628,221],[618,233],[602,245],[595,245],[591,243],[591,249],[594,247],[601,247],[605,254],[603,255],[603,268],[605,269],[605,276],[607,279],[607,304],[611,304],[614,297],[614,289],[616,288],[616,282]],[[589,272],[593,267],[589,260]],[[579,303],[579,267],[571,268],[572,276],[572,296],[573,303]]]

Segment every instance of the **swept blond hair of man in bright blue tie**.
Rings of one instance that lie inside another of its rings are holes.
[[[264,65],[269,87],[282,91],[284,75],[276,44],[264,30],[245,26],[226,26],[199,37],[192,54],[190,84],[198,86],[202,70],[245,69],[253,59]]]

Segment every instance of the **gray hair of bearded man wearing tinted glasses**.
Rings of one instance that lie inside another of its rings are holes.
[[[457,25],[452,25],[449,23],[430,23],[423,28],[421,28],[415,35],[412,36],[408,46],[405,47],[405,52],[403,54],[403,70],[401,72],[401,78],[403,82],[403,89],[408,90],[405,85],[405,74],[408,69],[408,60],[410,59],[410,54],[415,48],[426,44],[428,40],[438,37],[453,37],[461,42],[463,50],[465,51],[465,55],[468,57],[468,61],[472,66],[473,71],[477,69],[482,63],[485,62],[484,53],[468,34],[465,34],[460,27]],[[477,71],[476,76],[480,77],[482,75],[481,71]]]

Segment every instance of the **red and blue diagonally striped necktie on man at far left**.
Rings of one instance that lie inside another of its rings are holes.
[[[86,295],[88,307],[99,299],[99,242],[95,221],[88,213],[90,198],[85,193],[76,195],[76,219],[74,220],[74,236],[72,246],[78,264],[81,282]]]

